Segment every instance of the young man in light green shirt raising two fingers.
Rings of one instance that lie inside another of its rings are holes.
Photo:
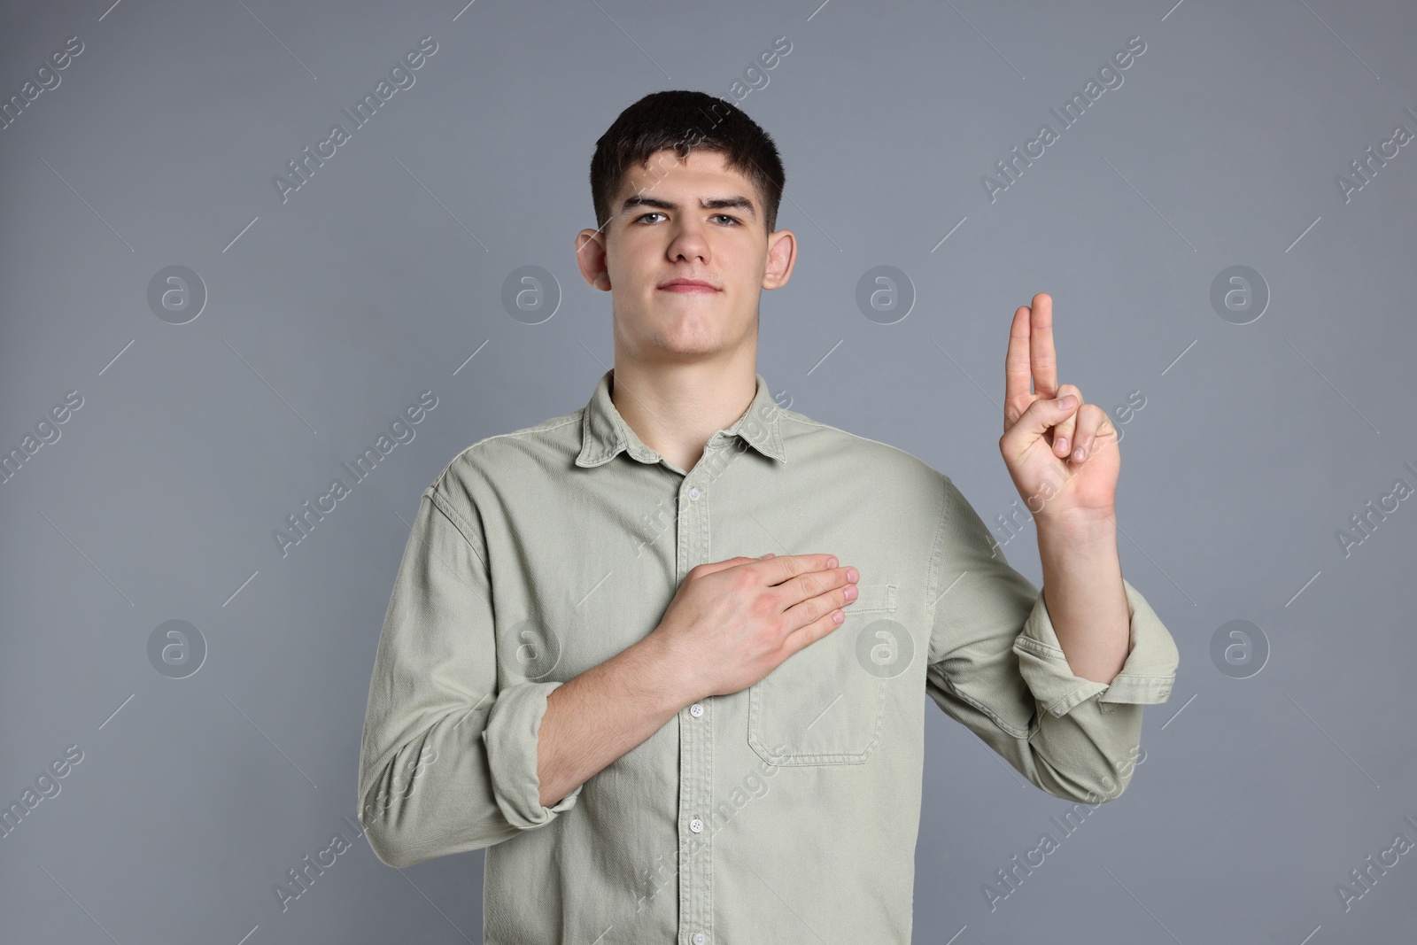
[[[1044,599],[948,476],[774,402],[782,184],[721,99],[621,113],[577,237],[614,368],[424,492],[360,819],[390,866],[486,847],[487,942],[904,945],[925,696],[1101,803],[1170,694],[1176,646],[1118,564],[1115,429],[1057,384],[1049,296],[1015,313],[999,441]]]

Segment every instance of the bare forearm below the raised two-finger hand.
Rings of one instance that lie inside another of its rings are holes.
[[[1057,521],[1039,517],[1043,604],[1076,676],[1111,683],[1127,663],[1131,616],[1111,516]]]

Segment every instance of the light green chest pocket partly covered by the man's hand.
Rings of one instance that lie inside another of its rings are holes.
[[[896,611],[896,585],[856,589],[840,626],[748,689],[748,745],[768,764],[856,765],[880,741],[887,680],[862,630]]]

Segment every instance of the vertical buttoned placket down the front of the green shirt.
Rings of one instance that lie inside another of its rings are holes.
[[[676,587],[708,557],[704,468],[696,465],[679,486]],[[679,713],[679,945],[713,942],[711,810],[713,700],[706,697]]]

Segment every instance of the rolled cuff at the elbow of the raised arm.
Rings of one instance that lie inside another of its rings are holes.
[[[1127,592],[1131,640],[1127,662],[1111,683],[1097,683],[1073,674],[1053,630],[1043,592],[1039,591],[1039,599],[1013,642],[1013,652],[1019,657],[1019,672],[1034,698],[1053,715],[1064,715],[1093,696],[1098,697],[1098,703],[1132,704],[1163,703],[1170,697],[1180,660],[1176,642],[1146,604],[1146,598],[1125,578],[1122,589]]]

